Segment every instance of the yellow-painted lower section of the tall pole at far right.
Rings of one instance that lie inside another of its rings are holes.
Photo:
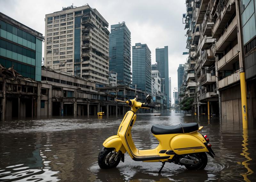
[[[241,86],[241,101],[242,101],[242,116],[243,116],[243,128],[248,128],[247,121],[247,98],[246,98],[246,82],[245,82],[245,73],[240,73],[240,86]]]

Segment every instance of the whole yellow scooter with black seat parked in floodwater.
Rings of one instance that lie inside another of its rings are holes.
[[[140,108],[155,108],[150,106],[151,97],[146,97],[146,103],[131,100],[117,100],[124,102],[131,107],[131,110],[124,115],[117,135],[109,137],[103,143],[103,148],[98,156],[98,164],[102,169],[116,167],[120,161],[124,162],[124,153],[128,152],[135,161],[143,162],[173,162],[185,165],[189,170],[202,170],[207,165],[208,153],[214,158],[212,145],[209,143],[207,135],[202,135],[199,131],[203,126],[198,127],[197,123],[180,123],[175,126],[153,125],[151,132],[159,141],[155,149],[139,150],[132,141],[131,130],[136,120],[136,112]]]

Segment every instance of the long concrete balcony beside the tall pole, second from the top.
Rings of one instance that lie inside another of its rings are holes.
[[[216,51],[224,51],[228,44],[237,37],[236,23],[237,19],[235,17],[217,41]]]

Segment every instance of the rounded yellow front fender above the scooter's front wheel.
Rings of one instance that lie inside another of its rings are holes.
[[[115,148],[116,152],[120,150],[123,154],[126,152],[122,140],[118,135],[110,136],[105,140],[105,142],[103,142],[103,146],[106,148]]]

